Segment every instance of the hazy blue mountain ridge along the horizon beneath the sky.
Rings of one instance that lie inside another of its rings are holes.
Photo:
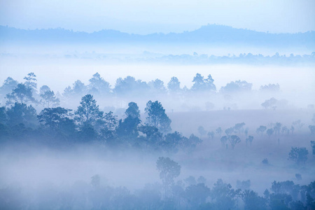
[[[104,29],[87,33],[66,29],[16,29],[0,26],[0,43],[204,43],[208,45],[315,46],[315,31],[297,34],[269,34],[223,25],[207,25],[183,33],[127,34]]]

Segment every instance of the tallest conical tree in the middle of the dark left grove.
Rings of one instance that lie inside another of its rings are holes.
[[[75,119],[81,126],[84,124],[94,126],[97,123],[97,120],[103,118],[103,112],[99,111],[99,106],[96,104],[96,101],[91,94],[82,97],[80,106],[78,106],[75,114]]]

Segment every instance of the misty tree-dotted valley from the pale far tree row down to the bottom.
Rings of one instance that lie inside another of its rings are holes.
[[[6,78],[0,209],[315,209],[314,90],[189,79]]]

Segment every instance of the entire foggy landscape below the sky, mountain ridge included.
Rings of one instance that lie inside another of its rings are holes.
[[[0,209],[315,209],[314,31],[23,28],[0,26]]]

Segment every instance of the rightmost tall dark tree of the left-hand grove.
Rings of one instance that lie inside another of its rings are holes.
[[[148,125],[152,125],[157,127],[163,133],[170,132],[172,120],[169,119],[167,114],[165,113],[165,109],[160,102],[151,102],[149,101],[146,104],[146,120]]]

